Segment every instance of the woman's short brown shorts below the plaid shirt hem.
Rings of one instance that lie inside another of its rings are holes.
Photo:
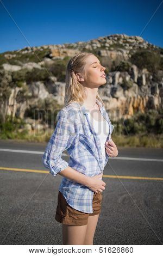
[[[101,213],[102,192],[93,194],[93,212],[78,211],[72,208],[66,201],[65,197],[58,191],[58,205],[55,214],[55,220],[67,225],[86,225],[89,216],[98,215]]]

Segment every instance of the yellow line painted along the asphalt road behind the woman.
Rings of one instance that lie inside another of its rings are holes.
[[[16,172],[30,172],[30,173],[49,173],[48,170],[33,170],[33,169],[21,169],[21,168],[8,168],[0,167],[0,170],[14,170]],[[120,175],[105,175],[103,178],[113,178],[113,179],[135,179],[135,180],[163,180],[163,178],[153,178],[153,177],[139,177],[139,176],[120,176]]]

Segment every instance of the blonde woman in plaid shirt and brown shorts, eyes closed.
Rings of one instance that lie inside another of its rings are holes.
[[[65,106],[43,155],[43,164],[62,178],[55,220],[62,223],[63,245],[93,245],[101,212],[103,169],[118,155],[111,125],[98,87],[106,83],[105,68],[92,53],[80,53],[67,64]],[[103,130],[98,131],[102,124]],[[108,143],[108,145],[107,145]],[[67,150],[70,161],[61,158]]]

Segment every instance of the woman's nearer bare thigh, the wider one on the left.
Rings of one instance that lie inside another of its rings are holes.
[[[87,225],[73,226],[62,224],[63,245],[85,245]]]

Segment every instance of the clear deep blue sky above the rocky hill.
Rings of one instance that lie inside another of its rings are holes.
[[[0,0],[0,52],[29,46],[3,5],[30,46],[87,41],[110,34],[140,35],[149,22],[142,38],[163,47],[160,0]]]

